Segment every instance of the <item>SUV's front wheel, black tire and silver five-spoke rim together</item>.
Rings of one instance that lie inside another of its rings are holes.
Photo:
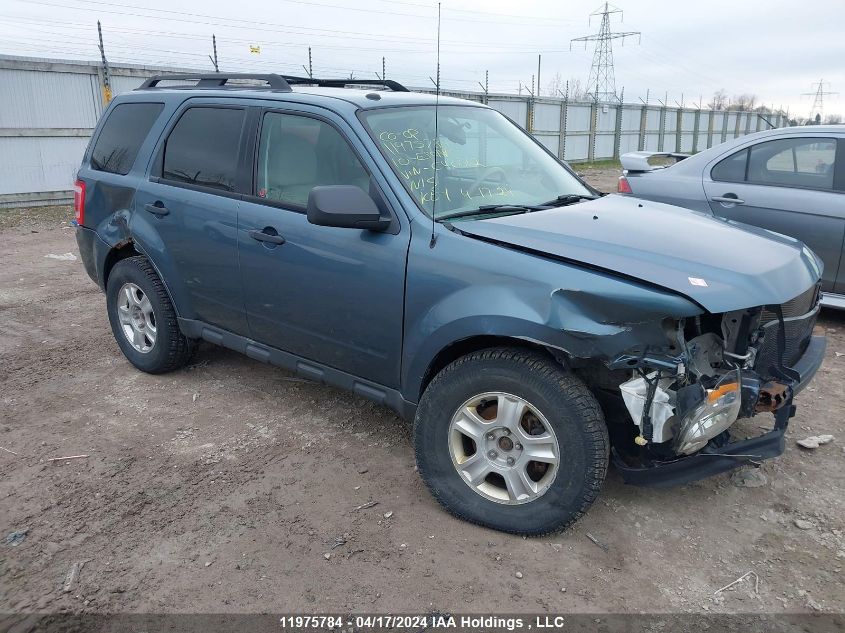
[[[449,512],[514,534],[565,528],[607,472],[595,398],[529,350],[484,350],[447,366],[423,394],[414,439],[420,474]]]

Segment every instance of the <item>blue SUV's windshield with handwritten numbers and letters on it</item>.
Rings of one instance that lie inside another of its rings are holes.
[[[526,132],[495,110],[441,106],[436,143],[434,112],[434,106],[403,106],[361,115],[402,184],[429,217],[591,196]]]

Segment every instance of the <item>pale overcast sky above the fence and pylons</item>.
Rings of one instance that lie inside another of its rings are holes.
[[[845,91],[845,1],[737,2],[620,0],[614,31],[617,91],[625,100],[706,103],[715,90],[750,93],[791,115],[807,116],[813,83]],[[491,92],[531,84],[542,54],[541,93],[556,73],[586,84],[598,0],[444,0],[444,88]],[[210,69],[211,34],[221,70],[303,74],[312,47],[315,76],[373,77],[386,58],[388,78],[430,85],[435,75],[437,3],[431,0],[3,0],[0,53],[96,59],[96,21],[112,63]],[[260,46],[260,54],[250,52]],[[845,97],[825,97],[825,114],[845,112]]]

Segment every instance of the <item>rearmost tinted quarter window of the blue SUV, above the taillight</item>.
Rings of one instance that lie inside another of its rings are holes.
[[[91,151],[91,167],[125,175],[132,169],[141,143],[164,108],[162,103],[122,103],[109,113]]]

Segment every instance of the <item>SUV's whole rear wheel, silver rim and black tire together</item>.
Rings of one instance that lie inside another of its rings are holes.
[[[176,310],[144,257],[128,257],[109,275],[106,305],[124,356],[141,371],[161,374],[185,365],[195,342],[179,330]]]

